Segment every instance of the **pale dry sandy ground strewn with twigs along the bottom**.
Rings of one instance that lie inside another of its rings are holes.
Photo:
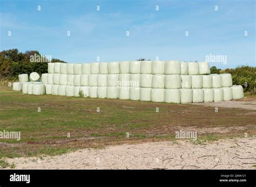
[[[16,169],[256,169],[256,136],[195,145],[188,140],[82,149],[8,159]]]

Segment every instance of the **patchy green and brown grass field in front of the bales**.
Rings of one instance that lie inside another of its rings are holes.
[[[24,95],[0,85],[0,131],[21,132],[20,141],[0,139],[0,158],[175,141],[179,130],[196,130],[195,143],[250,136],[256,134],[255,118],[252,110],[219,107],[215,112],[215,107],[204,105]]]

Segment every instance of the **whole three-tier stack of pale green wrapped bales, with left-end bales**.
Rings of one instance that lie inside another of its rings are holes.
[[[20,75],[28,81],[28,75]],[[19,76],[19,77],[20,77]],[[39,77],[32,73],[31,81]],[[20,81],[21,82],[21,81]],[[30,83],[29,83],[30,84]],[[244,97],[231,74],[210,74],[208,62],[124,61],[83,64],[48,63],[42,86],[24,93],[130,99],[166,103],[221,102]],[[35,84],[35,83],[34,83]],[[20,90],[20,85],[14,85]]]

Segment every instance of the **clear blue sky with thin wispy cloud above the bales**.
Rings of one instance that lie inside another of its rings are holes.
[[[227,57],[210,63],[218,68],[255,66],[255,1],[0,0],[0,10],[1,51],[37,50],[77,63],[212,54]]]

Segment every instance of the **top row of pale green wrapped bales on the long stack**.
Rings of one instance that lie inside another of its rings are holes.
[[[124,61],[93,63],[48,63],[48,73],[59,74],[179,74],[208,75],[208,62]]]

